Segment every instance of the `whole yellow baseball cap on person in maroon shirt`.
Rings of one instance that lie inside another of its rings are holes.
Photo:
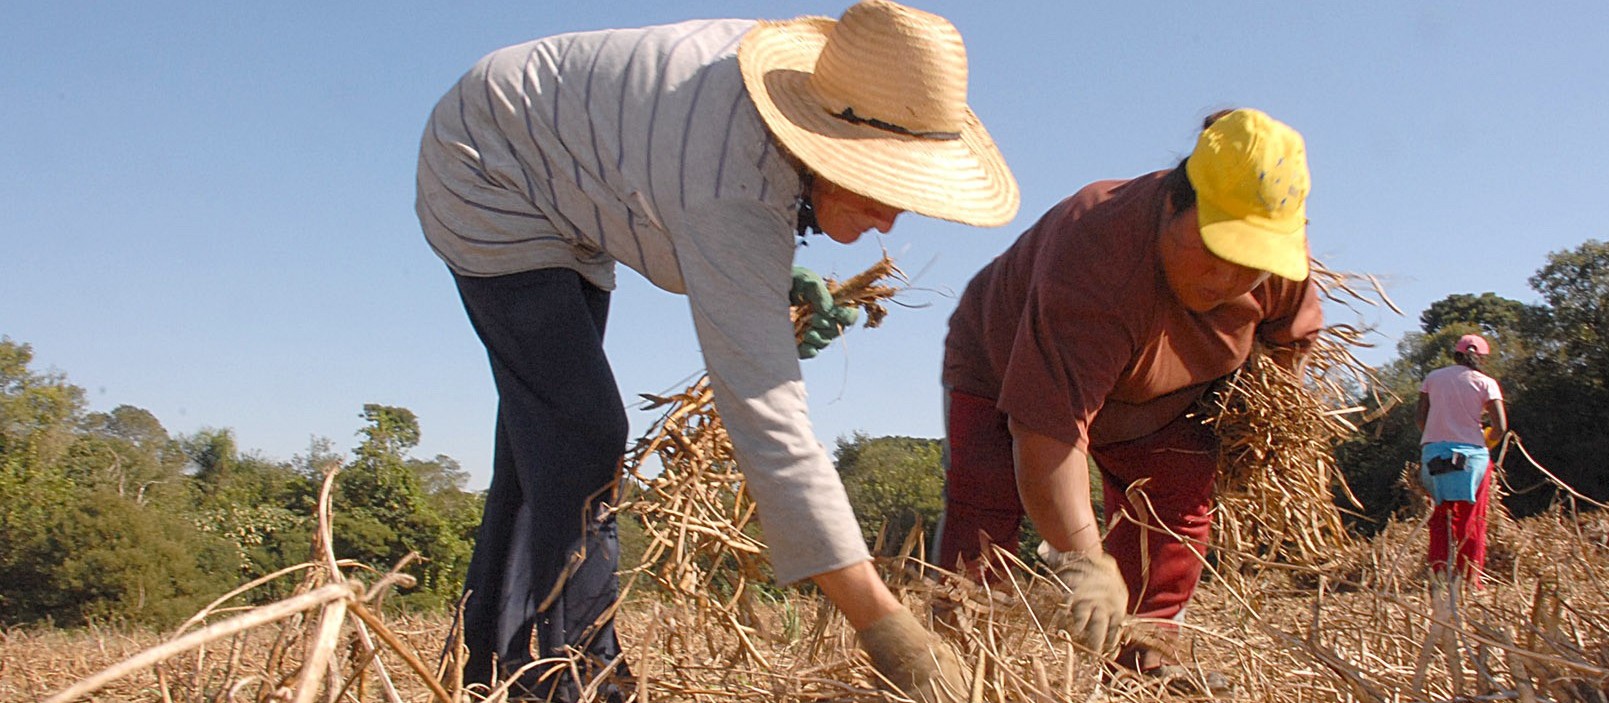
[[[1297,130],[1258,109],[1236,109],[1202,130],[1184,172],[1207,251],[1307,280],[1310,177]]]

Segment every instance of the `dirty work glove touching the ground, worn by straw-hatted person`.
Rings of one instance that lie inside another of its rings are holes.
[[[967,700],[956,650],[928,634],[909,610],[899,608],[861,631],[861,648],[883,679],[917,703]]]

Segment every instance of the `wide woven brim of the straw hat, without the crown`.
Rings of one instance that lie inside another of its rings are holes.
[[[811,71],[835,24],[830,18],[763,21],[743,35],[737,61],[761,119],[817,175],[879,203],[978,227],[1017,216],[1022,195],[994,140],[972,109],[959,138],[924,138],[830,114]]]

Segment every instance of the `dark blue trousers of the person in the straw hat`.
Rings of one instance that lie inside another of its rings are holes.
[[[491,682],[494,661],[504,679],[566,647],[602,666],[619,656],[602,618],[619,595],[603,504],[629,431],[603,356],[608,293],[570,269],[454,278],[497,384],[492,484],[465,581],[465,682]],[[515,693],[574,700],[584,682],[545,669],[523,674]]]

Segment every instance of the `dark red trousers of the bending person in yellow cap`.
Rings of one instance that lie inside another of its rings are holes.
[[[938,565],[949,568],[962,560],[977,574],[978,557],[988,544],[1017,552],[1023,507],[1017,495],[1012,438],[994,401],[965,393],[949,393],[944,423],[949,465]],[[1105,550],[1128,582],[1130,613],[1176,618],[1200,581],[1204,545],[1212,531],[1218,468],[1212,430],[1179,418],[1150,436],[1093,447],[1089,454],[1105,486],[1105,523],[1110,524]],[[1130,502],[1125,489],[1141,479],[1150,481],[1138,487]]]

